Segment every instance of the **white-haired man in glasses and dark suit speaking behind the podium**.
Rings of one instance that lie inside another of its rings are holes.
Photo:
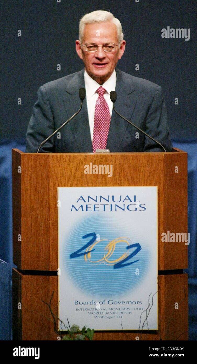
[[[86,90],[80,113],[40,152],[149,152],[163,149],[113,110],[110,91],[116,91],[116,110],[171,151],[162,88],[120,71],[116,65],[125,51],[120,21],[110,12],[94,11],[80,21],[76,52],[85,68],[48,82],[37,92],[27,130],[27,153],[79,110],[79,88]]]

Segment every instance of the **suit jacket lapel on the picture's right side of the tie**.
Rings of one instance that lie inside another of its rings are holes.
[[[114,106],[119,114],[130,120],[137,101],[134,94],[132,94],[134,87],[130,81],[128,82],[126,74],[118,68],[116,68],[116,76],[115,91],[117,93],[117,100]],[[120,118],[113,110],[106,149],[109,149],[110,152],[118,151],[128,126],[129,123]]]

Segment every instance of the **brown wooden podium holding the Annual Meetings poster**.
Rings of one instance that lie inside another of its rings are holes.
[[[90,163],[113,176],[84,174]],[[187,232],[187,153],[23,153],[12,150],[13,340],[57,340],[57,187],[158,186],[158,331],[97,331],[95,340],[188,340],[188,247],[162,242]],[[175,308],[176,302],[178,309]],[[21,303],[21,306],[20,306]],[[20,308],[21,307],[21,308]],[[73,324],[73,323],[72,323]],[[75,323],[77,324],[77,322]]]

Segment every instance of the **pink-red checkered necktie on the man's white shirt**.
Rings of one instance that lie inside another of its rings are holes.
[[[98,93],[98,98],[96,100],[95,106],[94,132],[92,141],[94,153],[96,152],[96,149],[106,148],[111,120],[109,106],[103,96],[106,92],[105,88],[100,86],[96,92]]]

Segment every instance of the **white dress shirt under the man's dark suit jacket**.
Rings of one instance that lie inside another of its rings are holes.
[[[104,94],[104,98],[109,105],[109,112],[110,116],[112,117],[113,103],[110,100],[110,92],[115,91],[116,88],[116,70],[113,71],[112,75],[102,85],[93,80],[93,78],[91,78],[85,70],[84,81],[85,81],[85,92],[86,92],[86,102],[88,108],[90,134],[91,134],[91,139],[93,141],[95,106],[96,106],[96,100],[98,98],[96,90],[100,86],[105,88],[106,92]]]

